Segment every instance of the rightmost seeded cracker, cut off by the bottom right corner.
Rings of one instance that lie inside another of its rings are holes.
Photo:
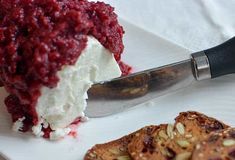
[[[232,160],[235,159],[235,128],[211,133],[196,145],[192,160]]]

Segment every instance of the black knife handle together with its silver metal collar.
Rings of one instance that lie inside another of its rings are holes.
[[[193,53],[191,56],[197,80],[235,73],[235,37],[216,47]]]

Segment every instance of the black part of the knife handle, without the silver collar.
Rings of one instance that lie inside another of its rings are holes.
[[[204,53],[209,61],[211,78],[235,73],[235,37]]]

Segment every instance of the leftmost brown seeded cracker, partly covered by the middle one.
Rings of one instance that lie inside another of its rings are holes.
[[[131,160],[127,150],[128,143],[142,130],[105,144],[95,145],[86,153],[84,160]]]

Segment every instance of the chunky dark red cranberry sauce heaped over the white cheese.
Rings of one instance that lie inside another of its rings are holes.
[[[0,79],[10,95],[5,103],[13,121],[23,116],[23,131],[37,124],[40,88],[53,88],[57,71],[74,64],[94,36],[120,62],[123,28],[114,9],[87,0],[1,0]]]

